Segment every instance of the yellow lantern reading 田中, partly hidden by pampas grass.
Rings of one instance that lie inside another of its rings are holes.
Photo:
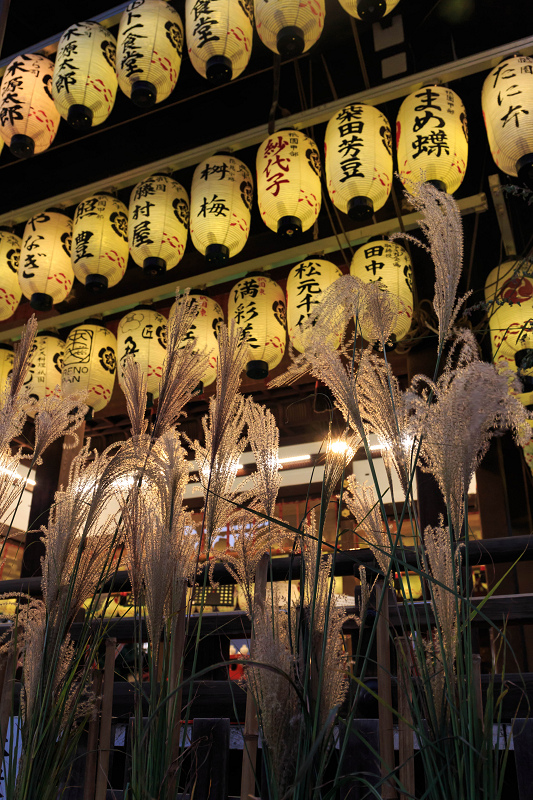
[[[413,272],[407,250],[396,242],[371,239],[355,251],[350,274],[363,283],[379,282],[387,289],[391,305],[397,312],[391,341],[399,342],[407,334],[413,318]],[[363,339],[371,341],[364,316],[359,319]]]

